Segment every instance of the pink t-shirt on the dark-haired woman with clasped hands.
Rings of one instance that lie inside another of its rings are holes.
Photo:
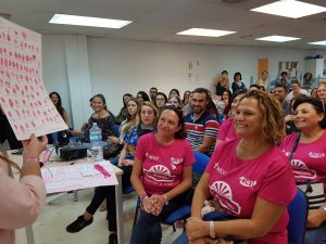
[[[171,145],[160,144],[154,133],[139,138],[136,158],[142,162],[142,184],[148,194],[164,194],[183,180],[184,167],[195,162],[189,142],[176,139]]]

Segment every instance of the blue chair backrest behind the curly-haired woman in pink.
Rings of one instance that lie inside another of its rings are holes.
[[[303,244],[308,217],[308,201],[302,191],[297,189],[297,194],[288,206],[289,224],[288,239],[291,244]]]

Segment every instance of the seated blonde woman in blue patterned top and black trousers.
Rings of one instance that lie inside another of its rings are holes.
[[[130,103],[130,102],[129,102]],[[138,139],[148,132],[151,132],[155,128],[155,123],[159,112],[151,102],[142,102],[139,111],[140,123],[137,126],[130,127],[125,134],[125,145],[118,159],[118,166],[123,169],[122,183],[124,185],[130,184],[130,175],[134,164],[134,155]],[[79,216],[77,220],[66,227],[66,231],[71,233],[79,232],[85,227],[92,223],[92,216],[106,197],[108,206],[108,220],[109,220],[109,244],[116,244],[116,211],[115,211],[115,188],[99,187],[96,188],[95,195],[90,205],[86,208],[84,215]]]

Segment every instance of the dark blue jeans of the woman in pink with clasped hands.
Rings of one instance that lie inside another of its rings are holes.
[[[161,222],[185,203],[185,196],[180,196],[170,201],[159,216],[140,210],[130,244],[160,244],[162,239]]]

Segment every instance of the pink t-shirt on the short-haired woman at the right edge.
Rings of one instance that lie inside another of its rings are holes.
[[[296,139],[300,132],[287,136],[279,149],[289,157]],[[298,143],[293,153],[291,166],[297,182],[306,180],[316,181],[326,179],[326,131],[323,136],[311,143]],[[325,183],[324,183],[325,185]]]

